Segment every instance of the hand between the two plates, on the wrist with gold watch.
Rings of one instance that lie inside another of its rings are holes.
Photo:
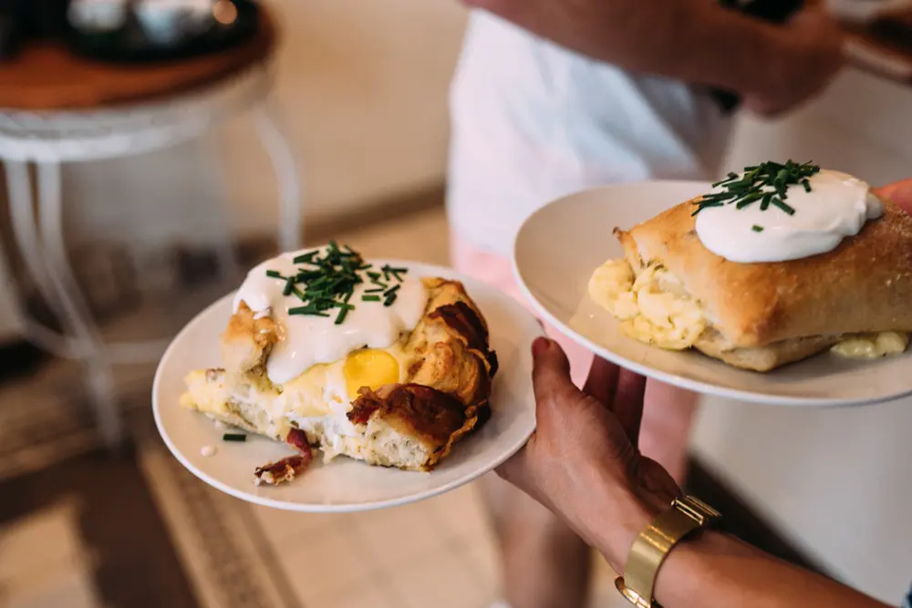
[[[680,492],[637,450],[646,379],[596,357],[581,391],[559,345],[539,338],[533,356],[538,427],[498,473],[560,515],[620,572],[637,534]]]

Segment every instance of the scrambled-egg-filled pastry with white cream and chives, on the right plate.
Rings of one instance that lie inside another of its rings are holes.
[[[845,173],[763,163],[615,235],[588,293],[642,342],[758,372],[907,348],[912,218]]]

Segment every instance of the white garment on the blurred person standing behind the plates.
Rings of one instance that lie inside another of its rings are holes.
[[[473,11],[451,88],[451,227],[509,256],[525,218],[565,194],[715,177],[730,123],[688,85],[629,74]]]

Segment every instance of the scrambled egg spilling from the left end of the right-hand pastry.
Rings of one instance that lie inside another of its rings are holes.
[[[617,317],[626,335],[661,348],[689,348],[707,327],[700,304],[659,263],[635,277],[626,260],[608,260],[589,280],[589,297]]]

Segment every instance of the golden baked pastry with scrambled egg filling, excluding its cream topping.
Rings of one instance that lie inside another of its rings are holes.
[[[882,215],[832,251],[766,263],[710,252],[696,230],[699,204],[683,202],[629,231],[615,229],[625,260],[598,269],[589,294],[627,335],[670,349],[695,347],[756,371],[850,339],[856,355],[905,350],[912,218],[896,204],[881,201]]]

